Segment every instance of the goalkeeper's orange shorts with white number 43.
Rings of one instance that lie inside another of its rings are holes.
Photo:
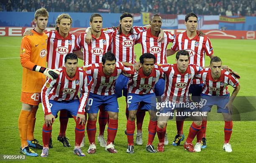
[[[41,93],[21,92],[20,102],[29,105],[39,105],[41,102]]]

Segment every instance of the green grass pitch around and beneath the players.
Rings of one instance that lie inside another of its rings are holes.
[[[241,90],[238,96],[255,96],[255,63],[256,63],[256,41],[255,40],[214,40],[212,39],[214,47],[214,54],[223,60],[223,64],[229,65],[241,75],[240,83]],[[20,138],[18,132],[18,117],[20,114],[20,91],[22,79],[22,67],[20,65],[19,51],[20,51],[21,37],[1,37],[0,39],[0,155],[3,160],[3,155],[20,155]],[[141,54],[141,45],[135,46],[137,54],[137,61]],[[170,46],[170,45],[169,45]],[[209,57],[206,56],[205,65],[209,65]],[[175,62],[175,57],[168,57],[169,63]],[[79,65],[82,62],[79,61]],[[232,89],[230,88],[230,92]],[[148,153],[145,150],[147,142],[147,127],[149,115],[146,114],[143,123],[143,145],[135,145],[135,153],[126,153],[127,137],[124,135],[126,127],[125,117],[125,98],[118,99],[120,113],[118,132],[115,138],[115,148],[118,150],[117,154],[111,154],[105,151],[97,143],[97,152],[93,155],[87,154],[89,147],[88,139],[86,138],[85,147],[82,148],[86,154],[81,158],[73,154],[73,147],[64,148],[57,136],[59,133],[59,120],[56,119],[53,125],[53,146],[50,149],[48,158],[26,157],[23,162],[101,162],[101,163],[115,163],[115,162],[254,162],[256,142],[256,121],[234,121],[233,133],[230,144],[233,147],[232,153],[223,151],[224,141],[224,122],[223,121],[208,121],[207,123],[207,148],[202,149],[200,153],[188,153],[184,151],[183,146],[165,146],[164,153]],[[255,101],[254,101],[255,104]],[[255,106],[255,105],[254,105]],[[212,111],[215,114],[216,109]],[[244,116],[255,115],[255,110],[244,113]],[[42,125],[44,123],[44,116],[41,104],[37,111],[36,126],[34,135],[35,138],[42,144]],[[245,120],[245,119],[244,119]],[[253,120],[253,119],[251,119]],[[255,120],[255,117],[254,117]],[[70,144],[74,146],[74,120],[69,119],[67,127],[67,138],[70,139]],[[189,131],[190,121],[184,122],[184,134],[187,136]],[[98,124],[97,124],[98,131]],[[176,124],[174,121],[169,121],[167,126],[167,133],[169,143],[173,141],[176,134]],[[97,135],[97,134],[96,134]],[[107,131],[105,130],[105,137]],[[135,134],[136,135],[136,134]],[[96,139],[97,140],[97,139]],[[158,143],[157,136],[155,137],[154,146],[156,148]],[[182,142],[183,145],[184,141]],[[195,143],[195,141],[194,141]],[[35,150],[39,155],[41,150]],[[254,160],[254,161],[253,161]]]

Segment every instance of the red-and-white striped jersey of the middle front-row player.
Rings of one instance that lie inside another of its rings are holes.
[[[130,73],[126,74],[123,73],[125,76],[130,78],[127,84],[128,93],[133,94],[151,94],[154,93],[154,86],[159,80],[159,78],[164,78],[164,72],[161,69],[160,65],[155,64],[154,69],[150,75],[146,76],[143,73],[143,69],[139,69],[138,72],[135,70]]]

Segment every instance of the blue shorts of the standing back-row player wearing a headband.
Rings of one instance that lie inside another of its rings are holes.
[[[125,77],[123,74],[120,74],[118,79],[115,81],[115,94],[117,95],[117,98],[122,97],[122,91],[123,96],[127,96],[127,83],[129,81],[128,77]]]

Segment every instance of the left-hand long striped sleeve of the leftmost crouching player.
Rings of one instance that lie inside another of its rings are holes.
[[[49,78],[42,88],[41,100],[42,100],[42,107],[44,110],[44,115],[51,114],[51,104],[49,102],[49,93],[52,89],[54,89],[54,85],[57,82],[57,79],[52,80]]]

